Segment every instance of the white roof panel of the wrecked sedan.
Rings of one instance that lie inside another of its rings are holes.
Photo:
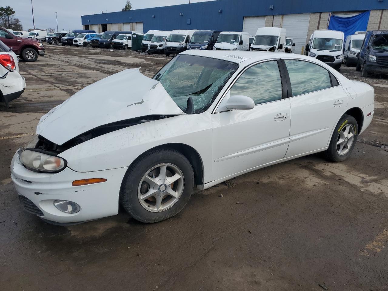
[[[314,60],[312,57],[307,57],[300,54],[289,54],[281,52],[251,52],[248,50],[185,50],[180,54],[185,55],[197,55],[201,57],[211,57],[213,59],[220,59],[240,64],[246,62],[247,64],[265,61],[269,59],[302,59],[302,60]]]

